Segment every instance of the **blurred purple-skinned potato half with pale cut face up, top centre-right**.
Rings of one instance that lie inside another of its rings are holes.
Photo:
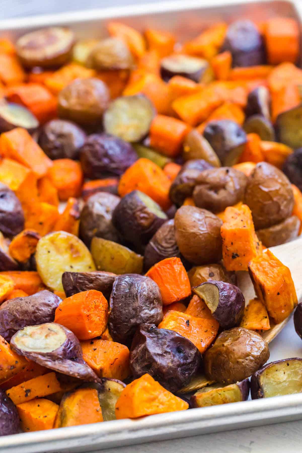
[[[174,76],[187,77],[197,83],[211,82],[213,79],[213,71],[207,60],[181,53],[162,59],[160,75],[165,82]]]

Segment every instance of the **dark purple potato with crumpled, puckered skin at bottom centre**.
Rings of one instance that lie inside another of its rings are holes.
[[[145,373],[170,392],[186,386],[201,365],[201,353],[187,338],[154,324],[141,324],[130,350],[130,371],[134,379]]]

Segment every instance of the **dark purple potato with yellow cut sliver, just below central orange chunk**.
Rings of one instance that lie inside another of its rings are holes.
[[[112,223],[117,231],[139,253],[167,220],[161,207],[139,190],[133,190],[121,198],[112,213]]]

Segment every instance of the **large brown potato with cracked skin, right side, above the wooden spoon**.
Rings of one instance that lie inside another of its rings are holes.
[[[288,178],[271,164],[259,162],[249,176],[244,203],[256,230],[280,223],[292,214],[293,193]]]

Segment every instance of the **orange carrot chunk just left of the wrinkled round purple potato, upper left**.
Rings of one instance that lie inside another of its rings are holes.
[[[58,190],[61,201],[79,197],[83,183],[83,172],[79,162],[72,159],[56,159],[48,171],[53,186]]]

